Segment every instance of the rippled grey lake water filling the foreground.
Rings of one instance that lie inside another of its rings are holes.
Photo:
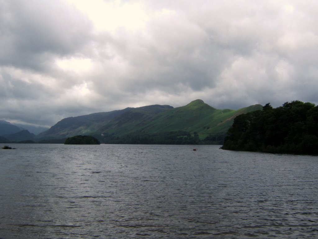
[[[17,149],[0,149],[0,238],[318,236],[316,156],[9,146]]]

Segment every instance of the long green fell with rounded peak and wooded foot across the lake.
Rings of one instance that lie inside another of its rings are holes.
[[[85,134],[106,143],[223,143],[237,115],[259,109],[261,105],[218,110],[200,99],[177,108],[149,105],[66,118],[37,137],[57,139]]]

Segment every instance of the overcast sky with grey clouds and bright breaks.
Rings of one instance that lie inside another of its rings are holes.
[[[318,104],[316,0],[0,0],[0,120]]]

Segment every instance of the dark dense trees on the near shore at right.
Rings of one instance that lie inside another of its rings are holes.
[[[228,130],[222,149],[318,154],[318,106],[301,101],[241,114]]]

